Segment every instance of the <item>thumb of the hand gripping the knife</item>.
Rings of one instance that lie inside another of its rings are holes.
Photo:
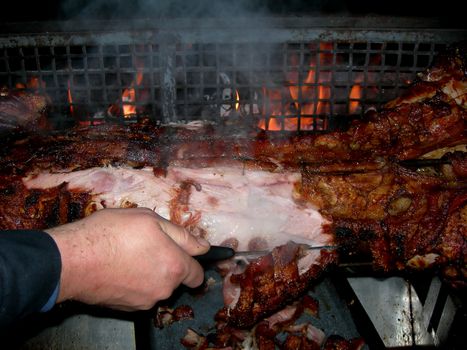
[[[160,222],[160,225],[162,230],[191,256],[204,254],[210,248],[210,244],[206,239],[193,236],[181,226],[167,220]]]

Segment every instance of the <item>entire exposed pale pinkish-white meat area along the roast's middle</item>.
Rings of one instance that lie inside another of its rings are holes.
[[[271,173],[241,167],[189,169],[169,167],[166,177],[156,177],[152,168],[92,168],[68,173],[41,173],[27,177],[28,188],[50,188],[67,182],[70,189],[90,191],[96,203],[122,207],[134,203],[170,219],[170,200],[183,181],[192,181],[189,212],[201,214],[198,226],[212,244],[228,238],[248,250],[251,239],[261,239],[272,248],[293,240],[312,245],[331,244],[322,232],[325,219],[312,206],[294,201],[299,173]],[[199,186],[198,186],[199,185]]]

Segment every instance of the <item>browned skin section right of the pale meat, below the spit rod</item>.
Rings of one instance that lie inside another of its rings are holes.
[[[467,154],[445,159],[452,164],[424,172],[396,164],[357,173],[305,169],[298,191],[332,219],[327,229],[349,255],[385,271],[441,267],[453,285],[463,285]]]

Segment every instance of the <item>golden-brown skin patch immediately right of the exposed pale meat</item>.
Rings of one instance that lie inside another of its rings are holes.
[[[337,218],[383,220],[400,217],[422,206],[425,196],[448,190],[442,176],[429,176],[390,164],[382,169],[357,173],[307,173],[302,178],[301,198]],[[462,187],[462,182],[455,185]]]

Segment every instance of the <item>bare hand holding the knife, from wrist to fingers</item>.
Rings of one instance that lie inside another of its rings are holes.
[[[46,232],[62,256],[57,302],[146,310],[180,284],[197,287],[204,279],[191,256],[209,243],[150,209],[104,209]]]

